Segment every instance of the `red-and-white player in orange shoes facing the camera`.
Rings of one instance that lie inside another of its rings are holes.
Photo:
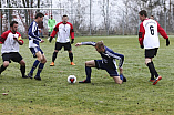
[[[52,55],[52,63],[50,64],[50,66],[54,66],[57,54],[62,49],[62,46],[64,48],[65,51],[69,52],[71,65],[75,65],[73,63],[73,53],[72,53],[72,48],[71,48],[71,44],[74,43],[74,30],[73,30],[73,25],[70,22],[68,22],[68,20],[69,20],[68,15],[63,15],[62,22],[58,23],[53,32],[51,33],[51,36],[49,40],[50,43],[52,41],[52,38],[54,38],[57,33],[58,33],[58,39],[55,42],[55,48]],[[70,35],[71,35],[71,44],[70,44],[70,38],[69,38]]]

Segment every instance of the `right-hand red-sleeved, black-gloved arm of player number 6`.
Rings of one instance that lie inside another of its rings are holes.
[[[168,46],[170,45],[170,39],[168,39],[166,32],[164,31],[164,29],[158,24],[158,22],[157,22],[157,31],[164,39],[166,39],[166,45]]]

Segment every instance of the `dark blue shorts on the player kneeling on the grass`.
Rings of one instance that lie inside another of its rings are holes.
[[[116,66],[110,67],[106,64],[102,63],[102,60],[94,60],[94,61],[95,61],[96,69],[105,70],[110,74],[110,76],[119,76]]]

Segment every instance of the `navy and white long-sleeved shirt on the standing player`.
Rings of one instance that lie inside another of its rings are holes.
[[[39,46],[39,42],[42,41],[42,39],[39,38],[38,23],[35,21],[30,24],[28,36],[29,48]]]

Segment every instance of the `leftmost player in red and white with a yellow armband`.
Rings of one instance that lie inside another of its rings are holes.
[[[3,64],[0,67],[0,74],[9,66],[11,61],[18,62],[20,64],[20,71],[23,79],[27,79],[25,75],[25,62],[23,58],[19,54],[19,45],[23,44],[21,34],[17,32],[18,22],[12,21],[10,23],[10,30],[2,33],[0,36],[0,43],[2,44],[1,53]]]

